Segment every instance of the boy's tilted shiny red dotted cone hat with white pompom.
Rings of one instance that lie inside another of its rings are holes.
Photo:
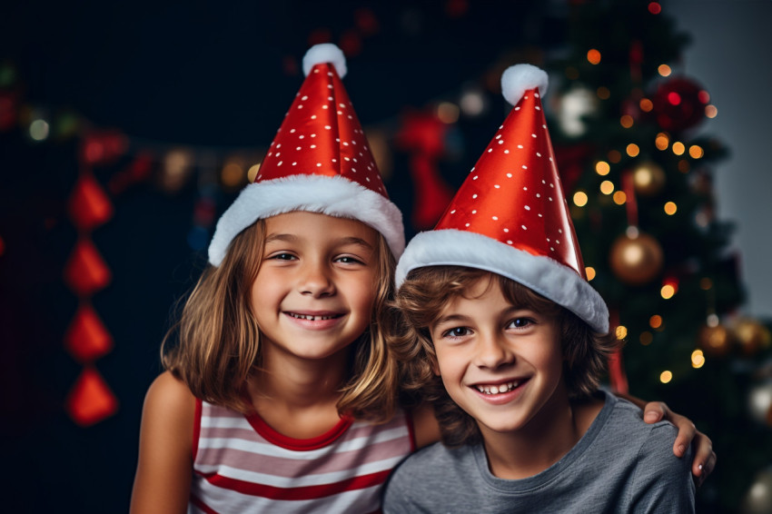
[[[547,74],[530,64],[501,76],[514,108],[471,169],[434,230],[408,244],[397,286],[423,266],[498,273],[609,331],[609,310],[587,282],[541,106]]]

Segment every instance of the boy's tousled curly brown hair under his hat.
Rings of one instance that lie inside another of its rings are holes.
[[[480,440],[476,421],[450,399],[435,375],[437,354],[431,341],[431,324],[452,299],[466,294],[483,278],[498,285],[512,305],[533,309],[553,317],[560,324],[563,352],[563,379],[569,398],[587,398],[598,389],[612,351],[621,341],[611,334],[593,332],[576,314],[554,301],[496,273],[464,266],[428,266],[410,272],[392,306],[400,311],[401,321],[389,338],[394,357],[400,362],[403,390],[431,401],[440,421],[442,440],[448,446],[460,446]]]

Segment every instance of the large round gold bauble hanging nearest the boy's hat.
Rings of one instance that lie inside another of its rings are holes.
[[[623,234],[611,245],[611,271],[620,281],[641,285],[650,282],[662,269],[662,247],[646,233],[636,237]]]

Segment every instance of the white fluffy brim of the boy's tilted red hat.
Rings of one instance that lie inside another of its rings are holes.
[[[447,229],[416,235],[397,264],[397,287],[411,270],[443,265],[498,273],[572,311],[594,331],[609,331],[606,302],[577,272],[475,232]]]

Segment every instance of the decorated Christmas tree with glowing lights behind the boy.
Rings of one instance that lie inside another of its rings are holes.
[[[566,51],[549,64],[552,137],[589,278],[626,341],[612,387],[666,400],[713,440],[699,512],[757,512],[770,489],[754,477],[772,460],[758,382],[769,331],[737,314],[733,226],[711,180],[727,148],[696,131],[718,111],[679,73],[688,42],[657,2],[572,4]]]

